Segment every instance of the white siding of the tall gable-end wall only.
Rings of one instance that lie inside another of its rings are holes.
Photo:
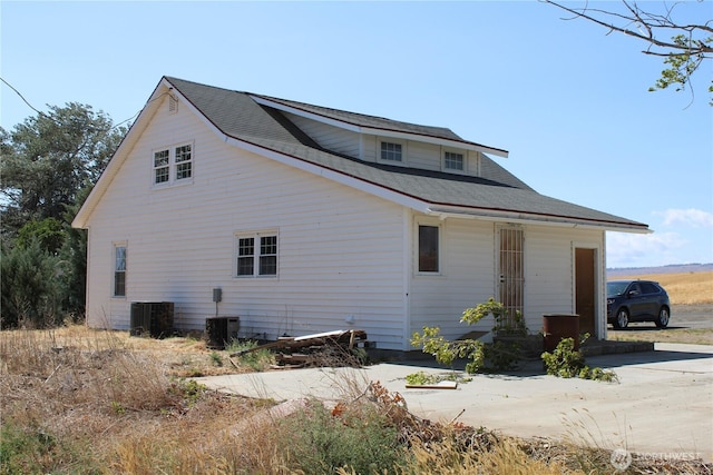
[[[152,189],[152,150],[194,141],[194,181]],[[162,107],[89,218],[88,321],[126,329],[131,301],[174,301],[175,326],[218,313],[241,336],[350,328],[403,349],[404,210],[221,141],[186,107]],[[279,277],[235,278],[234,234],[279,231]],[[127,296],[111,298],[111,243],[127,244]]]

